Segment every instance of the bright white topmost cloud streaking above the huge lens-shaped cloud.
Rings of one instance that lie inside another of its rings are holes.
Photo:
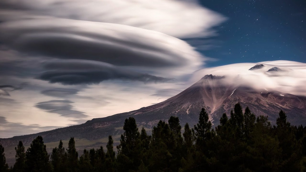
[[[207,37],[226,18],[195,0],[2,0],[3,7],[41,15],[123,24],[179,38]]]

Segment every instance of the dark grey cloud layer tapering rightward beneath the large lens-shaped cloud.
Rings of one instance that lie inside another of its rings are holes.
[[[50,71],[42,73],[38,79],[68,85],[98,84],[110,79],[141,82],[167,82],[172,80],[90,60],[50,60],[46,61],[43,66]]]

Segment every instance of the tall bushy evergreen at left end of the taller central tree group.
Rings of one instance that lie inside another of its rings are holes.
[[[125,119],[123,130],[120,144],[117,146],[118,170],[137,170],[140,165],[140,133],[133,117]]]

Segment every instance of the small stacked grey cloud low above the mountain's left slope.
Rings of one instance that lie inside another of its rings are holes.
[[[51,100],[39,102],[35,105],[36,108],[46,110],[50,113],[57,113],[64,117],[72,117],[72,118],[84,118],[88,115],[85,115],[84,112],[72,110],[73,106],[70,105],[74,103],[73,101],[68,100]]]

